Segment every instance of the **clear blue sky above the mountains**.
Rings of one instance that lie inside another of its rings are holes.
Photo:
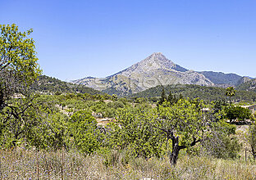
[[[0,24],[34,29],[43,74],[103,78],[153,52],[189,70],[256,78],[255,0],[0,0]]]

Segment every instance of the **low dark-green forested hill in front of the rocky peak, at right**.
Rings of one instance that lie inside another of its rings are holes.
[[[152,100],[156,100],[161,97],[162,88],[164,88],[166,94],[168,95],[171,91],[172,95],[179,97],[182,95],[183,97],[190,98],[199,98],[205,101],[216,101],[226,99],[226,89],[218,88],[218,87],[202,87],[199,85],[191,85],[186,84],[182,87],[173,87],[172,85],[167,86],[157,86],[154,88],[149,88],[143,92],[138,92],[130,95],[130,98],[144,97],[144,98],[152,98]],[[256,101],[256,92],[248,92],[248,91],[236,91],[235,97],[232,97],[235,101]]]

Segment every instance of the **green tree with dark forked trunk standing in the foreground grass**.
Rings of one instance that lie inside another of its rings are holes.
[[[179,151],[202,141],[207,130],[207,118],[202,111],[203,101],[194,103],[181,99],[172,106],[158,107],[158,118],[153,126],[164,134],[166,142],[171,140],[170,163],[176,165]]]

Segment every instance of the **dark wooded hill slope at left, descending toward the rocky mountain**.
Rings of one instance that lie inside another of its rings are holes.
[[[81,92],[89,94],[101,94],[94,88],[88,88],[82,85],[66,83],[60,79],[52,78],[47,75],[40,75],[31,86],[33,92],[54,93],[54,92]]]

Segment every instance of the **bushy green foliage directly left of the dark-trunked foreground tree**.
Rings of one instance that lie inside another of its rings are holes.
[[[161,134],[150,121],[156,117],[155,110],[124,109],[117,113],[117,122],[109,124],[109,146],[127,149],[135,156],[149,157],[161,154]]]

